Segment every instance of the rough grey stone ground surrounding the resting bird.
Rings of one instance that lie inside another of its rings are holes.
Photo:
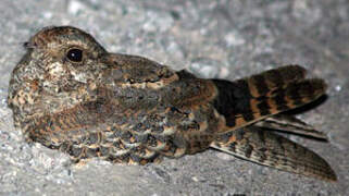
[[[0,4],[0,195],[348,195],[349,3],[347,0],[3,0]],[[328,82],[328,97],[300,117],[329,143],[291,137],[324,157],[337,183],[208,150],[146,167],[67,157],[29,146],[5,97],[22,44],[43,26],[73,25],[108,50],[140,54],[203,77],[234,79],[302,64]]]

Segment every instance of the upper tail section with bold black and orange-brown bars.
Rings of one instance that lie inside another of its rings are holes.
[[[307,79],[304,74],[301,66],[290,65],[233,83],[214,79],[219,90],[214,107],[225,117],[228,130],[301,107],[317,99],[326,90],[323,79]]]

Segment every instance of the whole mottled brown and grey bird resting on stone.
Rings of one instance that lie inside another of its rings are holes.
[[[320,78],[287,65],[242,79],[203,79],[146,58],[109,53],[89,34],[48,27],[25,45],[8,102],[29,142],[67,152],[139,163],[210,147],[284,171],[336,180],[311,150],[270,128],[326,138],[283,114],[323,96]]]

